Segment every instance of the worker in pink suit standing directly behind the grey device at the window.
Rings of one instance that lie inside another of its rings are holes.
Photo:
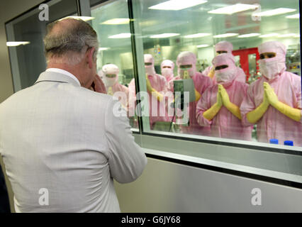
[[[173,81],[176,79],[186,79],[186,74],[193,79],[195,87],[196,101],[189,103],[189,126],[180,126],[182,133],[196,134],[196,135],[210,135],[210,127],[202,127],[196,121],[196,104],[203,96],[203,92],[208,87],[213,85],[210,77],[206,77],[196,70],[196,55],[193,52],[184,51],[177,56],[177,72],[178,76],[174,77],[169,82],[171,92],[174,92]]]

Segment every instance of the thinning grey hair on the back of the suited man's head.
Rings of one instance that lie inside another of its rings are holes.
[[[86,50],[94,48],[94,60],[99,49],[96,31],[79,19],[65,18],[47,26],[44,38],[48,62],[77,65]]]

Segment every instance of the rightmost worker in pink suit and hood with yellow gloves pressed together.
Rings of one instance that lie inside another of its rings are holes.
[[[250,84],[240,106],[242,123],[257,124],[257,139],[292,140],[302,146],[301,77],[286,72],[286,47],[277,41],[259,45],[262,77]]]

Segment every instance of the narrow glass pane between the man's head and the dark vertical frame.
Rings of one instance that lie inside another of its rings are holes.
[[[135,80],[128,1],[109,1],[93,6],[91,17],[100,43],[99,75],[106,85],[107,94],[118,96],[128,110],[130,125],[135,130],[138,118],[135,111],[131,111],[135,106]]]

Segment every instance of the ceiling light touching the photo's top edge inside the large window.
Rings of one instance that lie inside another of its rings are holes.
[[[164,1],[155,6],[149,7],[149,9],[159,9],[159,10],[181,10],[189,7],[204,4],[207,1],[204,0],[169,0]]]

